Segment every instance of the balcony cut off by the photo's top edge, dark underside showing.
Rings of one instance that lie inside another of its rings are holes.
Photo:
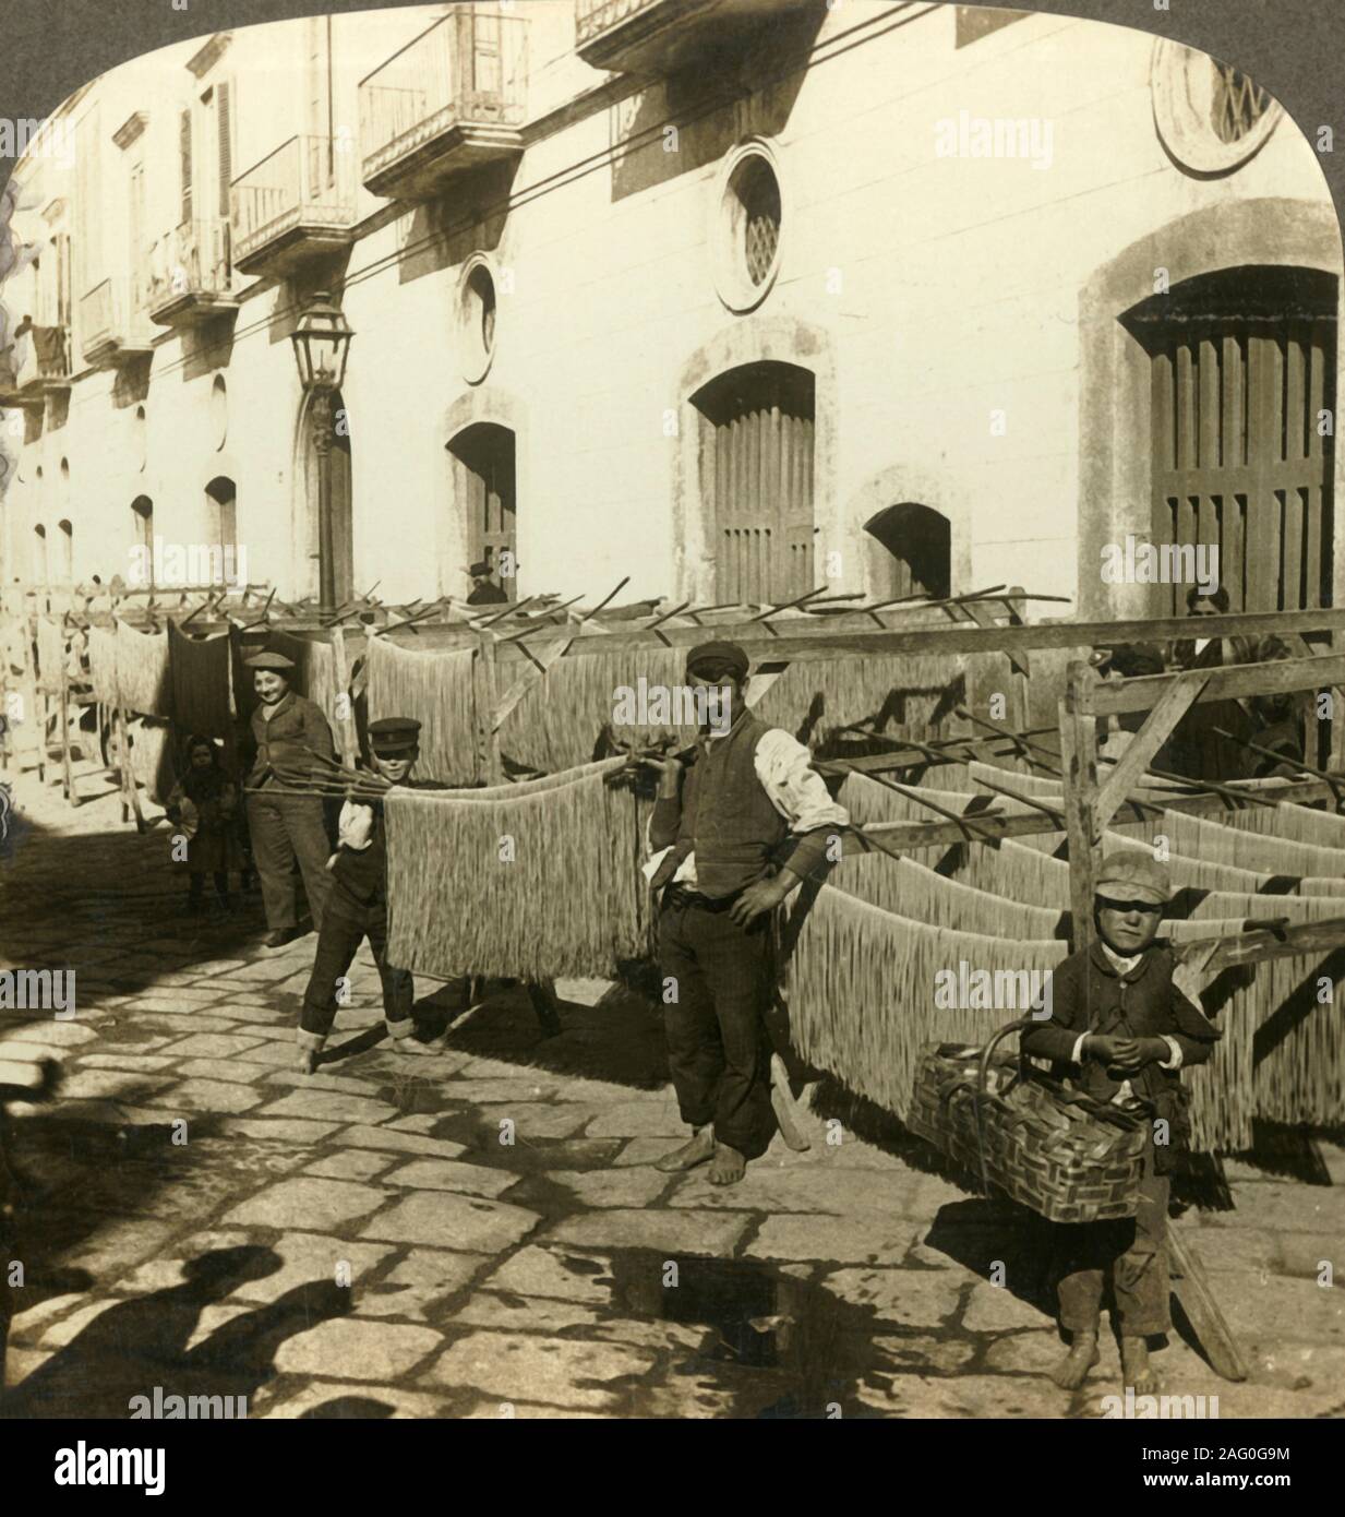
[[[678,73],[816,0],[576,0],[575,47],[613,73]]]

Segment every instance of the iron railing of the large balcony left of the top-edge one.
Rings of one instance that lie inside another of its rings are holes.
[[[520,126],[528,21],[459,6],[359,85],[364,179],[455,126]]]

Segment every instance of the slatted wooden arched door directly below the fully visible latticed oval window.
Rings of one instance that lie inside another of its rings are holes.
[[[814,586],[814,382],[795,364],[731,369],[693,397],[717,601],[779,604]]]

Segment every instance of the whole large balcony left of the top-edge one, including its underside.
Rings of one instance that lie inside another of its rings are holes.
[[[362,181],[393,200],[428,200],[456,174],[523,150],[523,17],[459,6],[359,85]]]

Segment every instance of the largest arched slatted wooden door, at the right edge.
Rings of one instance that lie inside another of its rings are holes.
[[[1154,542],[1218,545],[1230,611],[1331,602],[1334,313],[1333,276],[1239,269],[1125,319],[1152,356]]]

